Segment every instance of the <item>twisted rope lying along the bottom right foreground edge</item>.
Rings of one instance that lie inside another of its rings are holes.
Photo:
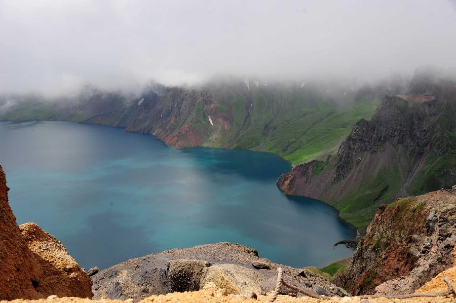
[[[332,297],[313,294],[313,293],[307,292],[297,286],[290,285],[283,280],[282,268],[279,267],[277,269],[277,272],[278,272],[278,276],[277,276],[276,288],[274,290],[273,295],[269,299],[270,302],[274,302],[277,299],[281,285],[284,285],[296,292],[300,292],[303,295],[306,295],[308,297],[312,297],[312,298],[316,298],[316,299],[332,299]],[[398,294],[398,295],[379,295],[379,294],[370,295],[370,294],[368,294],[368,295],[360,295],[360,296],[356,296],[356,297],[359,299],[380,298],[380,297],[388,298],[388,299],[405,299],[405,298],[414,298],[414,297],[445,297],[445,296],[449,296],[449,295],[456,295],[456,292],[453,289],[453,285],[451,284],[450,279],[445,277],[445,278],[443,278],[443,281],[445,281],[446,285],[448,286],[448,290],[445,292],[440,292],[440,293],[423,292],[423,293],[410,293],[410,294]]]

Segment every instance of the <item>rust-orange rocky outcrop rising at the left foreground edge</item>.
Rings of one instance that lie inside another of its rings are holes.
[[[92,297],[91,282],[65,247],[34,223],[20,226],[0,166],[0,299]]]

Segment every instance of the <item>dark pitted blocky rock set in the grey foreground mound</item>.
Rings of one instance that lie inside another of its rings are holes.
[[[168,280],[172,291],[195,291],[211,263],[202,260],[178,259],[168,263]]]

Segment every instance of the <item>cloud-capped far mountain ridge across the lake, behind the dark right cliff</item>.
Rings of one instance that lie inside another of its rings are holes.
[[[136,98],[96,89],[57,100],[8,96],[0,97],[0,120],[104,124],[150,133],[177,148],[252,149],[299,164],[335,153],[356,121],[372,117],[386,93],[403,92],[401,83],[351,89],[341,83],[231,78],[198,88],[154,85]]]

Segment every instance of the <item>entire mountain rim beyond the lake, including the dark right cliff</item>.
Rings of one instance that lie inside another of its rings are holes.
[[[96,89],[54,100],[4,96],[0,120],[96,123],[177,148],[246,148],[307,162],[278,186],[330,203],[363,228],[381,204],[456,183],[456,83],[424,69],[403,83],[351,89],[225,78],[198,88],[153,85],[136,98]]]

